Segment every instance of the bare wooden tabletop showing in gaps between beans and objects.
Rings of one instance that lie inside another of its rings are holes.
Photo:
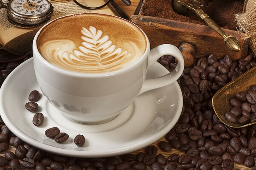
[[[125,14],[127,14],[128,16],[130,15],[133,15],[134,14],[134,11],[135,9],[137,8],[137,4],[139,3],[140,0],[131,0],[131,6],[125,6],[124,3],[122,3],[121,0],[115,0],[116,4],[125,12]],[[161,141],[161,140],[166,140],[164,138],[164,136],[159,139],[157,142],[154,142],[152,145],[154,146],[158,146],[158,143]],[[14,152],[15,153],[15,148],[10,146],[9,147],[9,150]],[[133,152],[132,154],[137,154],[139,152],[145,152],[145,148],[141,149],[141,150],[137,150],[135,152]],[[163,154],[164,156],[166,156],[166,158],[171,155],[172,153],[178,153],[178,154],[184,154],[183,152],[179,151],[179,150],[176,150],[176,149],[172,149],[171,151],[169,152],[163,152],[162,150],[159,149],[158,147],[158,153],[157,154]],[[1,156],[4,155],[4,153],[0,153]],[[147,169],[150,169],[150,167],[148,167]],[[241,164],[235,164],[235,168],[234,170],[236,169],[240,169],[240,170],[250,170],[250,168],[247,168],[245,167],[244,165],[241,165]]]

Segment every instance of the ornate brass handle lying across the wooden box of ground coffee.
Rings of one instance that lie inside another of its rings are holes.
[[[238,39],[233,35],[225,34],[224,31],[201,9],[202,5],[197,0],[192,0],[193,3],[183,2],[182,0],[173,0],[174,10],[182,15],[190,15],[190,11],[195,12],[204,22],[223,37],[224,43],[232,51],[241,51],[241,45]],[[188,10],[189,9],[189,10]]]

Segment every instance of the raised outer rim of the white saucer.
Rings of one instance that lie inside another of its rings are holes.
[[[29,62],[31,62],[31,64],[32,64],[33,58],[28,59],[25,62],[21,63],[17,68],[15,68],[15,70],[13,70],[9,74],[9,76],[3,82],[3,85],[0,88],[1,101],[3,101],[3,99],[4,99],[3,89],[8,88],[8,84],[12,81],[13,75],[15,75],[16,72],[18,72],[20,69],[23,69],[23,67],[25,67],[26,65],[29,65],[30,64]],[[160,65],[160,63],[156,62],[156,64],[158,66],[162,67],[162,69],[165,70],[166,74],[169,73],[169,71],[166,68],[164,68],[162,65]],[[168,133],[168,131],[171,130],[172,127],[175,126],[175,124],[177,123],[177,121],[180,117],[181,111],[182,111],[183,97],[182,97],[182,92],[181,92],[178,82],[175,81],[172,84],[174,84],[174,86],[178,87],[177,93],[178,93],[178,96],[181,96],[181,100],[179,101],[180,103],[177,105],[176,114],[175,114],[175,116],[173,116],[172,121],[171,121],[171,122],[175,122],[175,123],[172,124],[169,122],[169,124],[166,124],[163,126],[163,128],[160,128],[160,130],[158,130],[157,133],[154,133],[154,135],[151,135],[148,138],[146,138],[145,140],[141,140],[140,142],[137,142],[136,144],[128,144],[124,147],[119,147],[119,148],[112,149],[112,150],[96,150],[96,151],[93,151],[93,150],[68,150],[68,149],[64,149],[64,148],[50,146],[50,145],[44,144],[42,142],[39,142],[38,140],[35,140],[35,139],[27,136],[26,134],[21,132],[19,129],[17,129],[15,126],[12,126],[13,123],[8,119],[3,105],[1,105],[1,107],[0,107],[0,113],[1,113],[1,117],[2,117],[3,121],[5,122],[5,125],[12,131],[12,133],[15,134],[15,136],[17,136],[24,142],[31,144],[32,146],[35,146],[41,150],[45,150],[47,152],[58,154],[58,155],[73,156],[73,157],[94,157],[94,158],[96,158],[96,157],[105,157],[105,156],[117,156],[117,155],[122,155],[125,153],[131,153],[131,152],[140,150],[145,146],[153,144],[157,140],[161,139],[164,135],[166,135],[166,133]],[[172,85],[172,84],[170,84],[170,85]],[[167,85],[167,86],[170,86],[170,85]],[[150,127],[150,125],[148,127]],[[47,146],[47,149],[46,149],[46,146]]]

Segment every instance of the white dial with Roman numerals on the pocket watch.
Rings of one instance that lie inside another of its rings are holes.
[[[22,15],[40,15],[50,8],[47,0],[12,0],[10,3],[11,8]]]

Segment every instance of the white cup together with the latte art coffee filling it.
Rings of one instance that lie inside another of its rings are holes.
[[[163,55],[176,68],[145,79]],[[174,45],[150,49],[146,34],[128,20],[105,14],[74,14],[52,20],[33,41],[38,85],[49,103],[74,122],[99,124],[114,119],[139,94],[175,82],[184,60]]]

